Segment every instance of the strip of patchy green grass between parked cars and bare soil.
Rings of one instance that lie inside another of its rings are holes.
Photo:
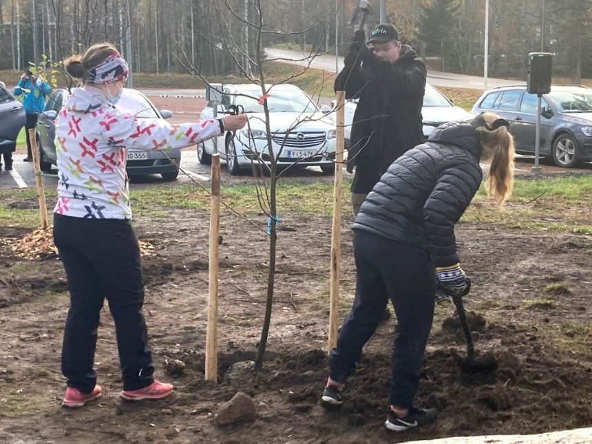
[[[343,180],[341,211],[349,213],[350,180]],[[300,178],[282,178],[277,190],[278,215],[290,213],[330,216],[333,184],[326,178],[317,182]],[[262,214],[255,184],[222,186],[222,200],[250,218]],[[56,192],[45,190],[47,208],[52,209]],[[263,191],[263,193],[265,193]],[[15,204],[19,202],[19,204]],[[131,205],[136,218],[165,218],[170,209],[209,211],[207,191],[193,185],[131,188]],[[592,175],[582,177],[525,180],[516,178],[514,195],[502,209],[487,197],[484,187],[476,194],[461,223],[499,226],[504,230],[553,231],[592,235],[589,218],[592,207]],[[0,224],[34,228],[38,223],[35,191],[0,189]],[[51,211],[51,210],[50,210]],[[222,211],[228,209],[222,207]]]

